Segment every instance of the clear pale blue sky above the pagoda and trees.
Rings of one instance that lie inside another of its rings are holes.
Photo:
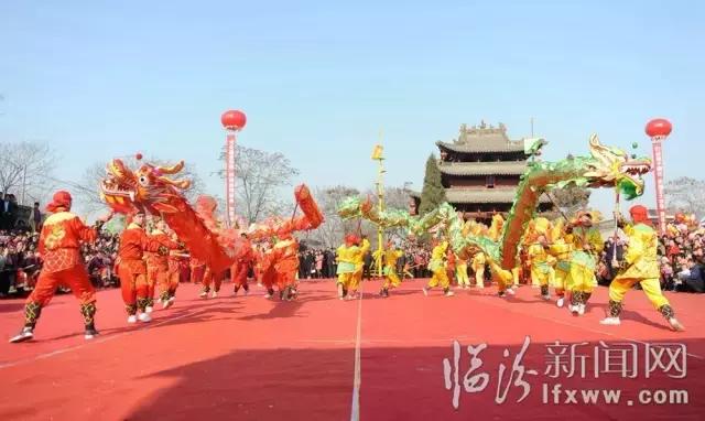
[[[284,153],[296,182],[370,186],[382,128],[389,184],[420,188],[463,122],[521,138],[533,117],[561,159],[592,132],[650,154],[662,116],[666,179],[699,176],[702,22],[694,1],[4,1],[0,140],[50,142],[63,180],[135,151],[184,158],[217,194],[219,116],[238,108],[238,141]]]

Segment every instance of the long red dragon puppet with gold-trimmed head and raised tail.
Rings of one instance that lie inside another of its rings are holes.
[[[129,214],[144,209],[160,215],[188,248],[192,258],[205,262],[212,273],[221,274],[235,263],[243,247],[239,233],[219,228],[213,214],[207,212],[214,208],[206,206],[206,212],[199,209],[202,212],[198,213],[189,205],[183,195],[191,185],[189,181],[167,177],[183,168],[183,161],[174,166],[144,163],[132,171],[121,160],[115,159],[108,163],[107,175],[100,183],[102,198],[115,212]],[[286,220],[273,218],[254,225],[249,233],[252,240],[278,237],[285,241],[286,247],[281,246],[280,250],[272,252],[271,267],[276,273],[273,283],[283,287],[288,295],[295,293],[291,282],[292,277],[295,278],[292,250],[297,249],[297,242],[291,235],[297,230],[315,229],[323,223],[323,215],[306,185],[296,186],[294,196],[303,215]],[[267,269],[263,268],[263,278],[267,278]]]

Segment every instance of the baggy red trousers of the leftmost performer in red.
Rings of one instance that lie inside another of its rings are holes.
[[[36,280],[34,291],[26,299],[26,302],[39,303],[41,306],[48,304],[54,298],[58,285],[70,288],[70,291],[80,300],[82,304],[96,302],[96,290],[90,284],[88,272],[86,272],[86,268],[83,265],[58,272],[42,271]]]

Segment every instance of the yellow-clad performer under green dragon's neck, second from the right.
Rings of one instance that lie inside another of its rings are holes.
[[[595,269],[605,241],[599,230],[593,226],[593,214],[589,212],[581,212],[577,219],[566,226],[566,233],[572,235],[573,242],[567,285],[571,290],[570,309],[573,313],[582,315],[585,314],[587,301],[597,287]]]

